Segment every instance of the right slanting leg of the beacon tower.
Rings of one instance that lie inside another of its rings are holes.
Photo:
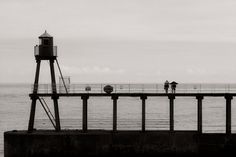
[[[60,125],[60,116],[59,116],[59,108],[58,108],[58,95],[57,95],[57,88],[56,88],[56,79],[55,79],[55,71],[54,71],[54,60],[50,60],[50,71],[51,71],[51,82],[52,82],[52,99],[54,102],[54,112],[55,112],[55,121],[56,121],[56,131],[61,130]]]

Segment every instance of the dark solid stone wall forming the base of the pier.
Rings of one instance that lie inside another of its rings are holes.
[[[9,131],[5,157],[100,155],[236,155],[236,134],[195,131]]]

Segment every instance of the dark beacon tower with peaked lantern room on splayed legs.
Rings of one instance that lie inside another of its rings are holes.
[[[34,119],[35,119],[35,109],[36,102],[40,100],[38,96],[38,85],[39,85],[39,72],[40,72],[40,64],[41,61],[46,60],[50,63],[50,71],[51,71],[51,88],[52,88],[52,100],[54,104],[54,112],[55,112],[55,129],[56,131],[61,130],[60,126],[60,117],[59,117],[59,108],[58,108],[58,94],[56,88],[56,79],[55,79],[55,70],[54,70],[54,61],[57,58],[57,47],[53,45],[53,37],[45,31],[41,36],[39,36],[39,45],[34,47],[34,55],[36,59],[36,73],[35,73],[35,81],[33,86],[33,93],[30,94],[32,103],[30,110],[30,118],[28,131],[32,132],[34,128]],[[57,61],[57,60],[56,60]]]

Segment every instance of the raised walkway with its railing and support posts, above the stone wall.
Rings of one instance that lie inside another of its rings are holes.
[[[206,97],[221,97],[225,99],[226,106],[226,126],[225,133],[231,134],[231,100],[236,96],[235,85],[215,85],[209,88],[209,85],[204,84],[184,84],[177,88],[176,93],[165,93],[163,85],[161,84],[112,84],[114,87],[112,93],[106,93],[104,87],[106,84],[71,84],[67,90],[60,90],[60,85],[55,85],[56,89],[59,89],[57,93],[51,93],[48,88],[49,85],[38,85],[38,93],[30,94],[31,99],[43,97],[80,97],[83,104],[82,112],[82,128],[83,131],[87,131],[87,117],[88,117],[88,100],[91,97],[108,97],[113,104],[113,131],[117,131],[117,105],[119,105],[118,99],[122,97],[138,97],[140,98],[141,113],[142,113],[142,131],[146,130],[145,117],[146,117],[146,100],[150,97],[166,97],[169,100],[169,131],[174,131],[174,106],[175,99],[178,97],[191,97],[196,99],[197,106],[197,130],[202,133],[202,106],[203,99]],[[89,91],[86,91],[89,87]],[[122,87],[122,88],[121,88]],[[223,91],[223,92],[222,92]],[[40,101],[41,102],[41,101]],[[46,102],[45,102],[46,103]],[[44,104],[45,104],[44,103]],[[42,103],[41,103],[42,104]],[[43,104],[42,104],[43,105]],[[45,112],[49,115],[48,111]],[[51,119],[52,121],[52,119]],[[60,124],[60,119],[57,120]],[[30,122],[32,123],[32,122]],[[53,123],[54,124],[54,123]],[[54,125],[55,126],[55,125]],[[55,126],[56,127],[56,126]]]

